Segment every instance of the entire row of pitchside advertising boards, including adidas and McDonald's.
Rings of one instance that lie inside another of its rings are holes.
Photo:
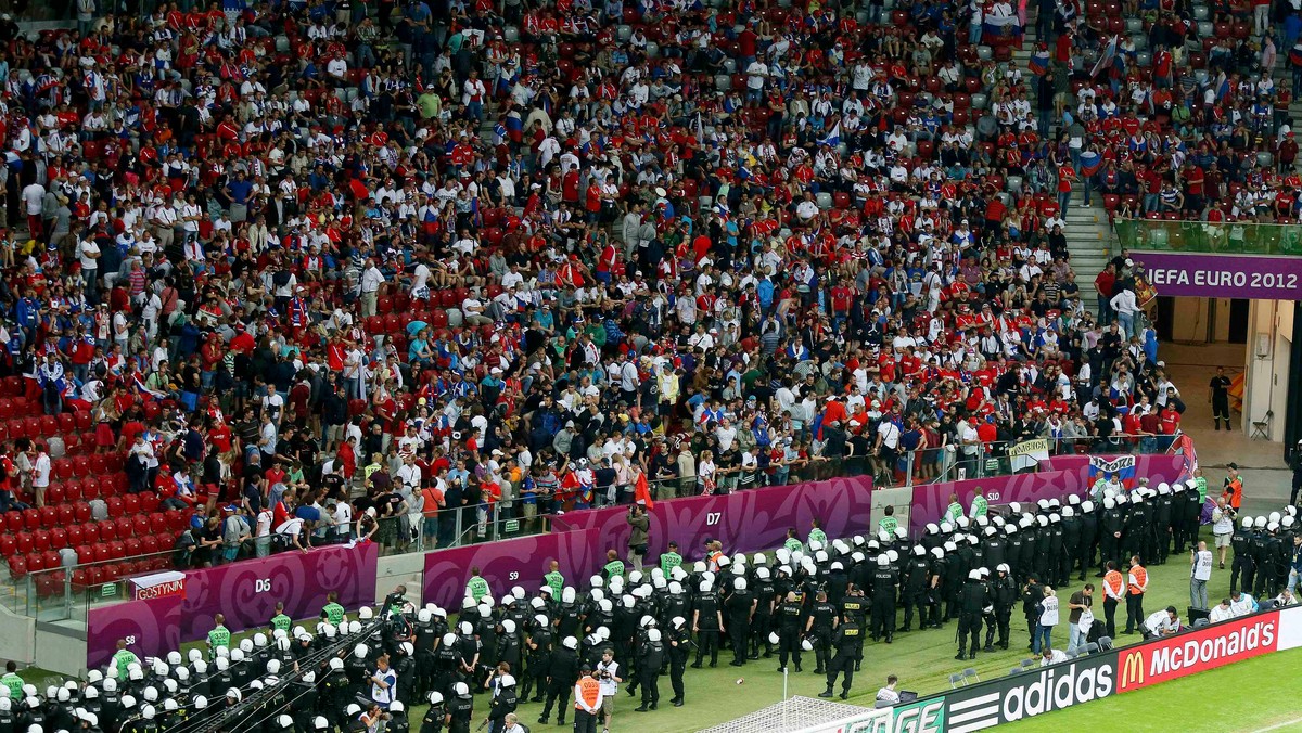
[[[1173,637],[1031,667],[896,706],[889,716],[848,717],[820,730],[971,733],[1298,647],[1302,607],[1262,611]]]

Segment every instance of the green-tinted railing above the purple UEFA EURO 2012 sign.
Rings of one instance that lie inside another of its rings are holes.
[[[1251,221],[1117,219],[1122,247],[1139,251],[1302,255],[1302,227]]]

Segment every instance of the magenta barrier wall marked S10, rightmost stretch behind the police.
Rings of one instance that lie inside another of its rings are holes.
[[[918,536],[928,522],[939,522],[945,508],[949,506],[950,493],[957,493],[958,501],[963,506],[970,506],[976,487],[986,491],[986,497],[991,504],[1009,504],[1012,501],[1034,504],[1040,499],[1062,500],[1070,495],[1083,496],[1090,488],[1088,456],[1056,456],[1042,461],[1040,466],[1042,470],[1034,474],[913,487],[913,506],[909,513],[910,534]],[[1160,482],[1176,480],[1184,466],[1185,458],[1182,456],[1135,456],[1135,475],[1148,478],[1154,486]]]

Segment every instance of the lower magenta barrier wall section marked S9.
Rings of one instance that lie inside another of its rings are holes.
[[[479,568],[493,598],[501,598],[512,586],[534,594],[542,587],[552,560],[560,564],[566,583],[586,585],[605,562],[600,534],[595,530],[552,532],[426,553],[422,603],[458,612],[471,568]]]

